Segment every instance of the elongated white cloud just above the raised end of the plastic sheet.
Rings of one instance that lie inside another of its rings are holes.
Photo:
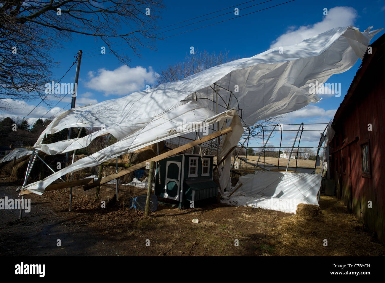
[[[323,11],[320,10],[320,13],[322,12]],[[314,25],[301,26],[297,29],[290,27],[288,32],[271,43],[270,48],[297,44],[304,39],[326,32],[326,30],[330,30],[331,28],[353,25],[356,18],[357,11],[352,7],[331,8],[328,10],[328,15],[323,16],[321,22],[315,23]]]

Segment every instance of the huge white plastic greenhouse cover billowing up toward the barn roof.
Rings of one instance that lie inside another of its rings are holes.
[[[233,91],[236,99],[230,99],[228,91],[221,89],[220,92],[224,101],[231,100],[230,109],[243,109],[242,124],[235,121],[233,126],[238,129],[233,127],[233,132],[222,138],[221,144],[226,146],[221,147],[220,156],[224,156],[225,149],[238,143],[243,126],[252,126],[261,119],[317,102],[318,96],[309,93],[309,84],[316,80],[319,84],[324,83],[331,75],[350,69],[358,58],[363,57],[370,39],[378,31],[360,32],[352,26],[333,28],[299,44],[284,46],[283,53],[276,47],[176,82],[161,84],[148,92],[134,92],[122,98],[64,111],[47,126],[34,145],[35,149],[51,155],[69,152],[88,146],[95,137],[106,133],[112,134],[118,142],[25,188],[42,194],[50,183],[64,174],[186,134],[187,130],[177,131],[178,123],[184,121],[201,122],[205,126],[220,122],[221,127],[229,126],[226,119],[238,117],[238,113],[223,107],[214,111],[213,102],[205,99],[213,99],[211,87],[214,83],[219,88]],[[235,92],[236,85],[238,92]],[[42,144],[45,135],[68,127],[102,129],[82,138]],[[222,190],[228,186],[230,159],[231,156],[224,162],[220,177]]]

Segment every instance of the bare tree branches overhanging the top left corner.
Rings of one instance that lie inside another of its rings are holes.
[[[142,47],[153,49],[162,8],[162,0],[1,1],[1,105],[7,99],[44,98],[44,85],[54,80],[52,69],[58,64],[52,51],[74,34],[95,37],[125,64],[129,56],[113,50],[116,40],[123,40],[126,51],[138,56]]]

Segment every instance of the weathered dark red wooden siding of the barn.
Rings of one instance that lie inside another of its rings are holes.
[[[355,80],[359,80],[357,88],[339,117],[333,121],[336,136],[331,142],[331,171],[334,172],[338,198],[377,233],[380,241],[385,242],[385,76],[382,67],[384,59],[380,56],[380,60],[372,60],[362,78],[356,75]],[[372,131],[368,131],[368,124],[372,124]],[[358,140],[353,141],[355,137]],[[372,178],[362,176],[361,144],[366,140],[370,147]],[[353,142],[347,145],[350,141]],[[345,174],[342,172],[343,158]],[[368,208],[368,201],[372,201],[372,208]]]

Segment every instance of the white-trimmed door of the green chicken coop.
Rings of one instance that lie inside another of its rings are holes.
[[[166,182],[164,186],[164,197],[179,200],[181,182],[181,162],[167,161],[166,163]]]

